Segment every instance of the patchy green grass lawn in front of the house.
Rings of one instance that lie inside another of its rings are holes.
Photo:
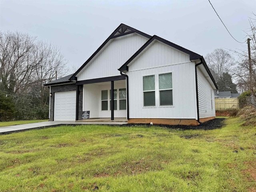
[[[256,127],[225,121],[216,130],[80,125],[0,135],[0,191],[253,191]]]

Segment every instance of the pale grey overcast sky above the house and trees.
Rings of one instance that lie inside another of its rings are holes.
[[[234,38],[244,42],[256,0],[210,1]],[[1,31],[52,42],[68,66],[80,67],[121,23],[203,56],[216,48],[247,47],[232,39],[208,0],[0,0]]]

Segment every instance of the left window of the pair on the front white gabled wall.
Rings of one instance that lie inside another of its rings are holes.
[[[144,106],[156,106],[155,98],[155,76],[143,77],[143,98]]]

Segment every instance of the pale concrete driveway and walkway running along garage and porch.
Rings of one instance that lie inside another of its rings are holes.
[[[12,132],[19,132],[22,130],[30,130],[30,129],[36,129],[36,128],[48,128],[48,127],[55,127],[55,126],[62,126],[62,125],[76,125],[76,124],[122,125],[122,124],[127,124],[127,122],[45,121],[45,122],[39,122],[39,123],[0,127],[0,134],[9,134]]]

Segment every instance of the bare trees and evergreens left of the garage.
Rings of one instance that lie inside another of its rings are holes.
[[[0,121],[47,119],[46,82],[66,72],[58,47],[21,32],[0,32]]]

